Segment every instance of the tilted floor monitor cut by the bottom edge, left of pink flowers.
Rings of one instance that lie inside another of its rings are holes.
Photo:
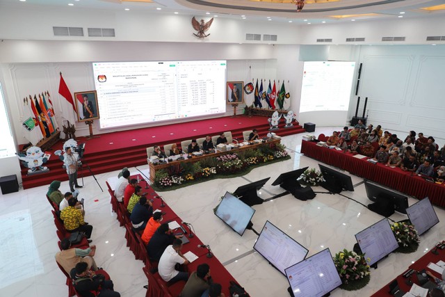
[[[341,285],[329,248],[285,269],[293,296],[320,297]]]

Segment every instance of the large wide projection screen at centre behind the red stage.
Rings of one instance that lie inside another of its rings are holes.
[[[226,61],[92,63],[100,128],[225,113]]]

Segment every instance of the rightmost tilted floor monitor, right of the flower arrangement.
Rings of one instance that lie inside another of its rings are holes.
[[[406,209],[406,213],[419,235],[425,233],[430,230],[432,226],[439,223],[439,218],[437,218],[436,211],[432,207],[428,197],[412,204]]]

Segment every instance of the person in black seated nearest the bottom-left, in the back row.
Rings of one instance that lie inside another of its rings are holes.
[[[86,262],[77,263],[76,267],[72,268],[70,276],[74,289],[82,297],[120,297],[118,292],[113,291],[113,282],[105,280],[104,275],[88,270]],[[99,294],[92,294],[92,291],[98,291]]]

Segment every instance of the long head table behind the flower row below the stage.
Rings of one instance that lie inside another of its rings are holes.
[[[179,161],[168,161],[165,163],[152,163],[149,162],[148,166],[149,166],[149,178],[150,178],[150,182],[154,182],[154,177],[156,176],[156,170],[161,170],[161,169],[165,169],[165,168],[169,168],[170,166],[178,166],[182,163],[188,163],[188,162],[199,162],[202,161],[204,159],[208,159],[208,158],[213,158],[216,156],[221,156],[223,154],[229,154],[229,153],[236,153],[242,150],[249,150],[249,149],[258,149],[261,146],[264,145],[276,145],[277,143],[281,142],[281,138],[268,138],[268,140],[264,143],[254,143],[252,145],[245,145],[245,143],[240,143],[240,145],[238,145],[237,147],[233,147],[232,150],[228,150],[228,151],[217,151],[217,152],[213,152],[210,154],[202,154],[201,156],[191,156],[191,158],[187,157],[187,154],[184,154],[185,158],[183,160],[179,160]]]

